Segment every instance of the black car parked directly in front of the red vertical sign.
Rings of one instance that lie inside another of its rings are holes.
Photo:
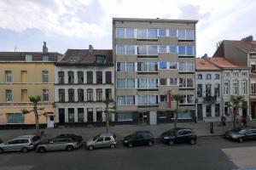
[[[165,144],[190,143],[195,144],[196,135],[191,128],[176,127],[161,134],[161,141]]]

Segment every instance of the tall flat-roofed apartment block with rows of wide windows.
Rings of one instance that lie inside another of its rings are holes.
[[[116,123],[195,119],[197,20],[113,18]]]

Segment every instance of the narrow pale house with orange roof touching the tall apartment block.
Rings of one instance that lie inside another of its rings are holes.
[[[219,122],[223,116],[222,70],[207,59],[196,58],[195,71],[197,122]]]

